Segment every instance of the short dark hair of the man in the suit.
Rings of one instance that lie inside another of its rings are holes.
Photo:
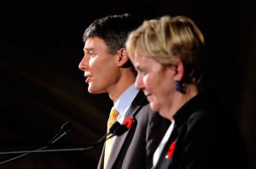
[[[116,54],[120,48],[125,48],[129,33],[142,23],[143,20],[132,14],[109,15],[92,22],[84,31],[83,40],[99,37],[106,42],[109,54]]]

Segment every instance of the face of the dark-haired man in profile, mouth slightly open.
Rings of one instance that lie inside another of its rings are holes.
[[[119,79],[117,54],[109,54],[106,43],[99,37],[90,37],[84,43],[84,58],[79,69],[84,71],[89,93],[108,93]]]

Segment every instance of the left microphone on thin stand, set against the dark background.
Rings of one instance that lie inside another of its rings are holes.
[[[59,139],[63,138],[64,136],[67,136],[67,134],[69,134],[70,132],[73,131],[73,124],[69,121],[65,122],[62,126],[61,126],[61,130],[59,132],[57,132],[55,134],[55,136],[53,138],[51,138],[49,140],[49,143],[47,145],[45,145],[44,147],[41,147],[39,149],[36,149],[36,150],[42,150],[42,149],[47,149],[49,147],[49,145],[51,144],[55,144],[56,141],[58,141]],[[2,161],[0,162],[0,165],[6,163],[6,162],[9,162],[9,161],[14,161],[15,159],[18,159],[22,156],[25,156],[25,155],[29,155],[31,154],[32,152],[20,152],[20,153],[23,153],[22,155],[17,155],[15,157],[12,157],[6,161]],[[3,152],[3,154],[0,152],[1,155],[10,155],[10,154],[20,154],[20,153],[5,153]]]

